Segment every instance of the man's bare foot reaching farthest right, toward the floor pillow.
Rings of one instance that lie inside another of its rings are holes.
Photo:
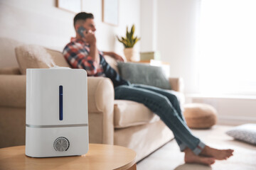
[[[214,149],[211,147],[206,146],[203,148],[203,151],[200,155],[206,157],[214,157],[218,160],[228,159],[229,157],[233,156],[233,149]]]

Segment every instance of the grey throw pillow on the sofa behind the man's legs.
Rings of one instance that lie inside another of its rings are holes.
[[[169,80],[161,67],[133,62],[118,62],[117,67],[122,78],[127,79],[132,84],[145,84],[161,89],[171,89]]]

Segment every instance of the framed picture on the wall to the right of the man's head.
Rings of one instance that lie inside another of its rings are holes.
[[[102,0],[102,21],[118,26],[119,0]]]

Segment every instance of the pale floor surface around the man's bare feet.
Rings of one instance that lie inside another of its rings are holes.
[[[235,149],[234,156],[225,161],[216,161],[212,166],[203,166],[198,164],[184,164],[184,154],[179,151],[175,140],[164,145],[161,149],[151,154],[142,162],[137,164],[138,170],[224,170],[224,169],[246,169],[256,170],[256,147],[244,142],[233,140],[232,137],[225,135],[225,132],[232,126],[215,125],[210,130],[192,130],[193,134],[199,137],[210,147],[219,149],[231,148]]]

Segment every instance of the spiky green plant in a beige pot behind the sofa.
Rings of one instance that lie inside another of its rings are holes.
[[[124,45],[124,55],[127,58],[128,62],[134,62],[136,60],[137,52],[136,50],[134,50],[133,47],[140,40],[140,38],[134,37],[134,29],[135,26],[132,25],[131,31],[129,32],[127,26],[126,37],[117,37],[117,40],[119,40],[119,42],[121,42]]]

